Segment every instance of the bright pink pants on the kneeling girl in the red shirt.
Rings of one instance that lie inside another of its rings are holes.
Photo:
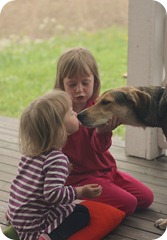
[[[80,181],[80,186],[98,183],[102,186],[102,194],[92,201],[103,202],[114,206],[127,215],[132,214],[137,208],[146,209],[153,202],[152,191],[143,183],[127,173],[115,170],[114,175],[104,177],[87,177]]]

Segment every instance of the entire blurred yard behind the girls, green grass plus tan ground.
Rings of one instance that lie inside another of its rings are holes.
[[[60,54],[88,48],[101,93],[126,85],[128,0],[15,0],[0,13],[0,115],[19,118],[54,86]],[[124,137],[124,126],[115,134]]]

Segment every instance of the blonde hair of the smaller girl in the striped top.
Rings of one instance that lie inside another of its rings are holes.
[[[52,148],[61,149],[67,140],[64,116],[71,105],[70,96],[61,90],[52,90],[34,100],[20,119],[21,153],[37,156]]]

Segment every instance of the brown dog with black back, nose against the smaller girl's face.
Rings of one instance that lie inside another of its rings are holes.
[[[77,117],[84,126],[94,128],[112,116],[126,125],[160,127],[167,138],[167,89],[151,86],[109,90]]]

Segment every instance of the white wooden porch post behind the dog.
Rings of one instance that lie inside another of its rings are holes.
[[[153,0],[129,0],[127,85],[162,85],[164,77],[165,9]],[[157,128],[127,126],[128,155],[151,160],[160,156]]]

